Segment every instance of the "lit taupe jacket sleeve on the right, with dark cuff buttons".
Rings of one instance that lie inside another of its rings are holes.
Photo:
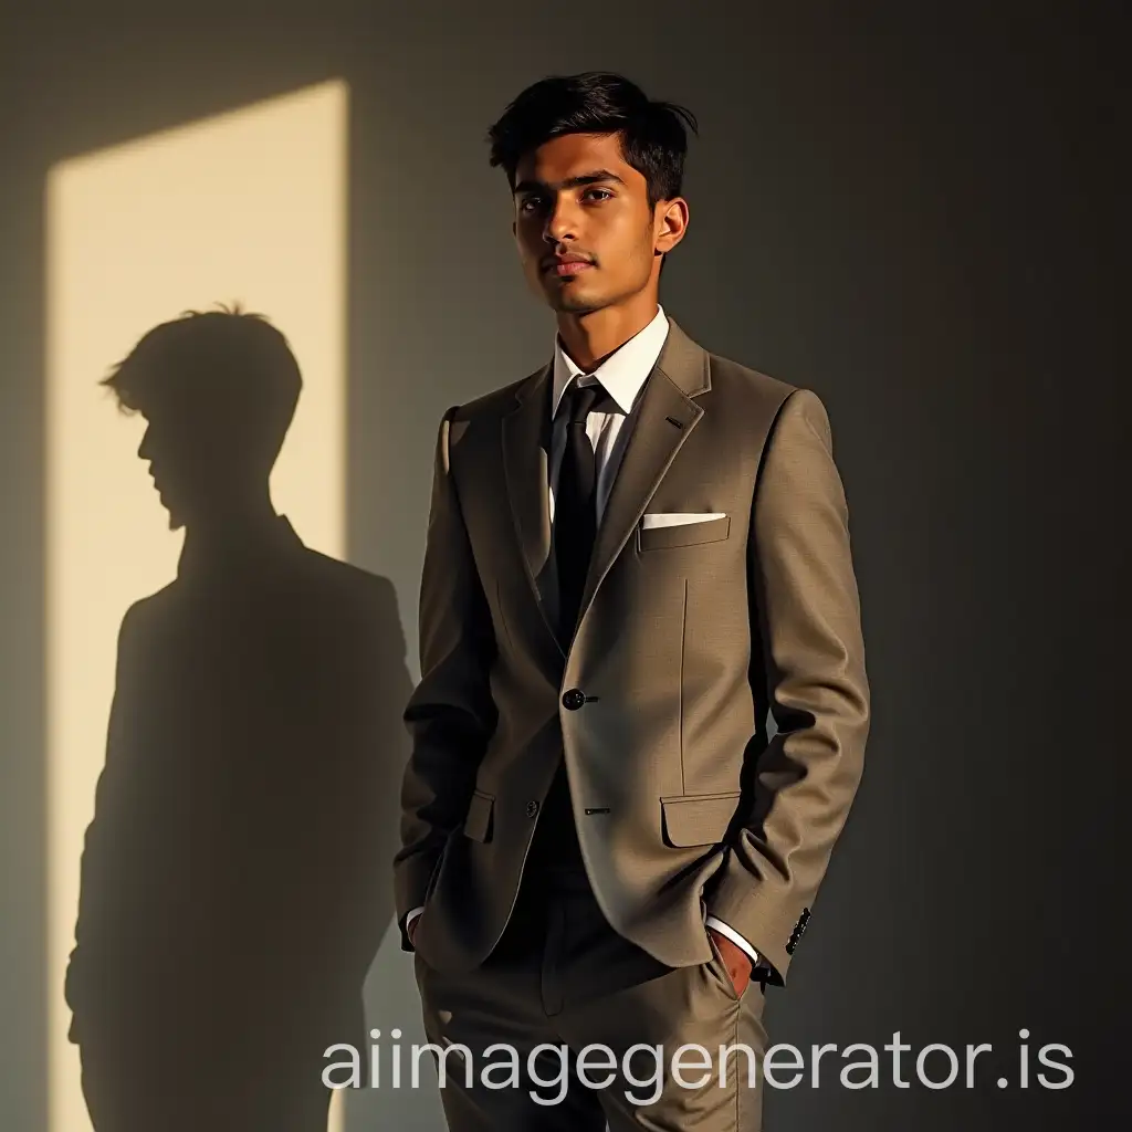
[[[752,506],[753,692],[777,731],[762,744],[749,812],[704,895],[782,985],[849,815],[869,726],[848,508],[812,391],[794,391],[779,411]]]

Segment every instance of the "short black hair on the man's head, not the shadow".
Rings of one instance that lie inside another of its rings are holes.
[[[649,207],[680,195],[687,127],[698,134],[686,106],[655,102],[614,71],[550,75],[532,84],[488,130],[490,164],[503,165],[512,191],[524,154],[564,134],[619,134],[625,161],[643,174]]]

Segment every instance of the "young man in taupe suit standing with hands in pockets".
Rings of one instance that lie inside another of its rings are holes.
[[[765,1049],[861,774],[825,410],[658,303],[681,118],[588,72],[490,131],[558,334],[436,449],[394,871],[454,1132],[756,1132],[761,1077],[720,1046]]]

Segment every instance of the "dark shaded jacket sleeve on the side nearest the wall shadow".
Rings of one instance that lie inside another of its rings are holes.
[[[393,860],[402,951],[412,950],[405,918],[426,903],[445,842],[468,813],[498,718],[490,689],[491,614],[452,471],[457,408],[444,414],[437,437],[421,572],[421,678],[404,711],[412,741],[401,788],[401,848]]]

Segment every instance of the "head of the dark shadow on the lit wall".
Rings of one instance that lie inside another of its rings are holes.
[[[145,418],[138,456],[175,529],[266,494],[302,378],[283,334],[234,305],[155,326],[101,384]]]

